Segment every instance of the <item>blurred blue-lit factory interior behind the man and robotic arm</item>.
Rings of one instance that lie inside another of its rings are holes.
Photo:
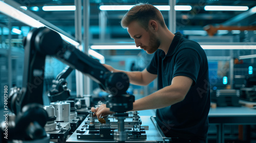
[[[130,0],[1,0],[0,9],[4,7],[4,4],[9,4],[15,9],[27,13],[44,25],[80,43],[79,48],[84,53],[89,53],[101,63],[110,64],[121,70],[143,70],[153,55],[148,55],[143,50],[136,48],[133,39],[120,26],[120,20],[127,10],[114,10],[113,7],[114,5],[135,5],[138,2]],[[165,7],[167,9],[161,10],[161,12],[169,30],[173,33],[181,32],[187,39],[199,42],[205,49],[209,63],[212,103],[216,103],[217,108],[218,106],[244,106],[245,104],[239,102],[240,100],[250,102],[249,106],[255,108],[255,0],[154,0],[146,2],[155,6],[167,6]],[[172,10],[169,5],[177,7]],[[54,11],[47,10],[46,6],[70,6],[70,9]],[[108,7],[102,6],[111,7],[109,10],[104,10]],[[239,7],[228,10],[227,8],[221,9],[221,7],[210,9],[211,7],[207,6]],[[24,55],[23,38],[33,29],[32,23],[30,25],[26,21],[18,20],[22,18],[22,15],[11,9],[9,12],[8,15],[0,10],[0,108],[4,107],[4,86],[8,86],[8,88],[22,87],[23,69],[26,64],[24,63],[26,55]],[[117,48],[115,45],[118,45]],[[47,57],[44,79],[44,102],[46,105],[50,104],[47,94],[52,86],[52,80],[65,67],[65,64],[55,58]],[[90,94],[95,102],[106,100],[107,94],[99,90],[95,82],[75,70],[68,76],[67,81],[72,96]],[[247,87],[250,88],[249,91],[247,91]],[[239,98],[232,97],[232,94],[230,99],[220,100],[216,95],[226,89],[233,89],[235,96],[238,91]],[[156,90],[156,81],[148,86],[131,85],[129,88],[129,92],[135,94],[136,98],[147,96]],[[228,103],[223,105],[223,102]],[[256,142],[255,125],[251,125],[248,132],[249,140]],[[214,142],[215,135],[218,134],[217,128],[211,126],[208,133],[208,141]],[[229,142],[248,141],[245,135],[239,136],[239,125],[227,126],[225,135]]]

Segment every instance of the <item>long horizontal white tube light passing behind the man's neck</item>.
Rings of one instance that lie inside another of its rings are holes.
[[[256,45],[201,45],[205,50],[256,50]],[[136,45],[91,45],[93,50],[141,50]]]

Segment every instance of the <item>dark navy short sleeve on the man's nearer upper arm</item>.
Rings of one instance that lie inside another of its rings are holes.
[[[192,86],[197,82],[201,60],[198,53],[193,49],[182,49],[175,57],[173,78],[176,76],[186,76],[193,80]]]

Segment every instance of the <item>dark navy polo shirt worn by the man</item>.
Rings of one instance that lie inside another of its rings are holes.
[[[208,131],[210,91],[208,62],[202,47],[177,32],[167,54],[158,49],[146,69],[158,75],[158,89],[171,85],[176,76],[193,80],[185,99],[157,109],[156,119],[167,137],[204,140]]]

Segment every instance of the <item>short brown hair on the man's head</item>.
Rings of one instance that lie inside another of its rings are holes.
[[[139,3],[132,7],[121,20],[122,28],[127,28],[131,22],[138,21],[139,25],[148,30],[148,22],[156,20],[163,28],[166,28],[162,13],[153,5]]]

